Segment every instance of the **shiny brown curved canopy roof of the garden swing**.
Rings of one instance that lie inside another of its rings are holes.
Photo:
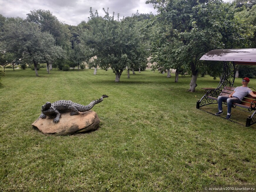
[[[232,61],[240,65],[256,65],[255,49],[215,49],[204,54],[200,60]]]

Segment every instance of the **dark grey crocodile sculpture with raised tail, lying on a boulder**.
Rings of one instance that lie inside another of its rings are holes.
[[[70,115],[76,115],[78,112],[85,112],[89,111],[90,109],[93,108],[93,106],[97,103],[100,103],[103,101],[103,98],[108,97],[107,95],[102,95],[101,98],[92,101],[89,103],[89,105],[84,106],[78,103],[73,103],[72,101],[67,101],[67,100],[60,100],[60,101],[55,101],[54,103],[46,102],[42,106],[42,113],[40,115],[41,118],[46,118],[46,116],[56,116],[54,118],[53,122],[57,123],[59,122],[60,119],[60,112],[68,112],[71,111]]]

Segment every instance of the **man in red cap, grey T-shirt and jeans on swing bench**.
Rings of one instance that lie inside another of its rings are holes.
[[[230,95],[223,95],[218,97],[218,113],[215,115],[220,115],[223,113],[222,111],[222,101],[227,101],[227,116],[226,119],[230,119],[231,117],[231,107],[232,103],[241,103],[242,99],[250,94],[253,97],[256,97],[256,94],[252,92],[252,90],[247,87],[247,84],[250,82],[248,77],[242,79],[242,86],[236,87],[235,90]]]

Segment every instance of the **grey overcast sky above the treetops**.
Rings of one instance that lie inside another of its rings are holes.
[[[59,21],[69,25],[77,25],[87,21],[90,7],[93,12],[97,9],[99,16],[104,16],[102,8],[109,7],[109,14],[131,16],[136,13],[157,14],[152,4],[145,4],[146,0],[0,0],[0,14],[5,17],[22,17],[31,10],[49,10]]]

